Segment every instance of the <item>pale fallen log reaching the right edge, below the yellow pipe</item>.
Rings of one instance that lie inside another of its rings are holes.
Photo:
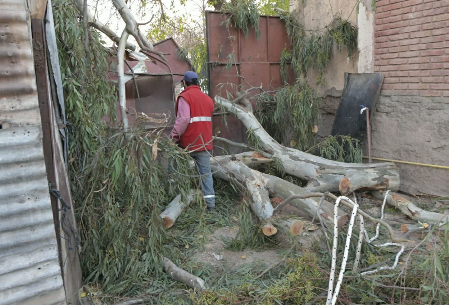
[[[373,192],[373,196],[377,199],[383,200],[384,194],[379,191],[375,191]],[[421,208],[418,208],[410,200],[405,199],[401,195],[394,192],[389,192],[387,194],[387,203],[392,207],[399,209],[403,214],[416,221],[428,221],[436,223],[449,221],[448,214],[444,215],[441,213],[425,211]]]

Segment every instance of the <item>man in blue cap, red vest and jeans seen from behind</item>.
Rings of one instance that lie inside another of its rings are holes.
[[[184,90],[176,100],[176,121],[170,137],[187,148],[195,160],[207,209],[215,209],[215,192],[211,174],[212,111],[214,102],[198,86],[198,74],[184,73]]]

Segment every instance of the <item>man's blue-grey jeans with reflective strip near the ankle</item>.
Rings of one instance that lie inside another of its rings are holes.
[[[190,156],[194,159],[198,173],[201,176],[202,194],[206,205],[209,208],[213,208],[215,207],[215,191],[211,173],[211,152],[207,150],[194,151],[190,153]]]

